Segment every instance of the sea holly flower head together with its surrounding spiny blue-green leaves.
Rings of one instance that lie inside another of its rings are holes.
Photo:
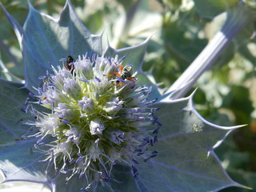
[[[191,79],[162,95],[142,71],[149,39],[103,50],[102,35],[90,34],[68,0],[58,20],[30,5],[23,27],[2,10],[25,65],[24,83],[0,84],[2,182],[38,182],[52,191],[245,187],[214,154],[239,126],[204,120],[194,93],[175,98]]]

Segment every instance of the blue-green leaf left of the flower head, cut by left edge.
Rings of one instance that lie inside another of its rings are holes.
[[[34,181],[49,185],[44,174],[46,163],[38,162],[44,154],[34,150],[37,139],[22,138],[29,131],[24,122],[31,118],[23,111],[29,91],[22,88],[22,84],[2,79],[0,82],[0,169],[3,182]]]

